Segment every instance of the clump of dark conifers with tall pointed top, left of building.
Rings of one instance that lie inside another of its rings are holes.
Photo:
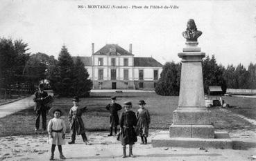
[[[87,97],[92,89],[92,81],[80,57],[76,63],[69,55],[66,46],[62,46],[58,61],[50,59],[46,69],[46,78],[49,80],[53,91],[60,96]]]

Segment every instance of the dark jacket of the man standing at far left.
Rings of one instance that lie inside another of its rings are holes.
[[[35,107],[34,107],[34,111],[35,113],[37,113],[38,111],[47,111],[47,107],[43,104],[43,101],[41,100],[41,97],[47,97],[48,94],[43,91],[42,93],[40,93],[39,91],[35,92],[34,95],[34,102],[35,102]]]

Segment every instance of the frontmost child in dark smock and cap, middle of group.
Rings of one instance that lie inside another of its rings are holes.
[[[131,111],[132,103],[125,102],[123,104],[124,109],[126,110],[121,114],[120,118],[120,127],[121,135],[120,141],[123,145],[123,158],[126,158],[126,145],[129,144],[129,156],[135,157],[133,155],[133,144],[137,142],[137,135],[135,132],[135,126],[137,124],[137,118],[135,112]]]

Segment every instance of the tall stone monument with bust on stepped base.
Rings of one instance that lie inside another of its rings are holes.
[[[173,111],[173,124],[169,133],[161,132],[152,140],[156,146],[214,147],[232,149],[228,133],[214,132],[210,120],[211,113],[205,107],[203,89],[202,58],[205,53],[198,47],[198,37],[202,32],[197,30],[194,19],[187,22],[187,30],[182,36],[187,39],[181,58],[180,95],[178,108]]]

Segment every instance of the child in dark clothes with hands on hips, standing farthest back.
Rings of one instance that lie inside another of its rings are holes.
[[[110,134],[113,135],[113,126],[114,126],[114,135],[117,135],[117,125],[119,124],[118,111],[121,110],[121,105],[116,103],[116,97],[111,97],[111,104],[108,104],[105,108],[110,111]]]

